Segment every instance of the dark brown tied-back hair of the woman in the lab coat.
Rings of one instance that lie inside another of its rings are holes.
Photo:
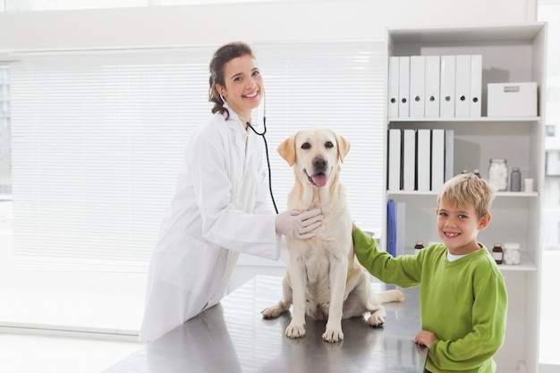
[[[233,43],[228,43],[225,46],[219,47],[212,61],[210,61],[210,89],[208,92],[208,101],[214,103],[212,107],[212,114],[220,113],[224,114],[225,117],[229,119],[229,112],[224,107],[224,101],[220,97],[220,93],[216,89],[216,84],[225,87],[224,70],[225,64],[233,60],[233,58],[241,57],[242,55],[250,55],[254,58],[253,51],[246,43],[237,41]]]

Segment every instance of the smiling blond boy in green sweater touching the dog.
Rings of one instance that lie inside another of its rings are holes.
[[[420,285],[422,330],[415,343],[428,347],[425,372],[496,371],[493,356],[504,343],[507,292],[504,276],[477,242],[490,223],[495,192],[475,174],[445,182],[437,196],[437,233],[443,243],[417,255],[393,258],[354,225],[361,264],[387,284]]]

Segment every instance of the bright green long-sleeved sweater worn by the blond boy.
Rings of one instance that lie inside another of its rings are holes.
[[[429,348],[426,369],[496,371],[492,357],[504,343],[507,292],[504,276],[483,245],[450,262],[443,243],[393,258],[360,229],[352,238],[356,257],[373,276],[401,287],[420,286],[421,328],[438,338]]]

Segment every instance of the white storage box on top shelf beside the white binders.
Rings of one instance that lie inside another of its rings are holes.
[[[537,83],[488,83],[488,116],[537,116]]]

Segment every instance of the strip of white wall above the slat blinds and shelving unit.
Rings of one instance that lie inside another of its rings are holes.
[[[386,26],[535,21],[536,4],[537,0],[301,0],[0,13],[0,53],[232,40],[383,41]]]

